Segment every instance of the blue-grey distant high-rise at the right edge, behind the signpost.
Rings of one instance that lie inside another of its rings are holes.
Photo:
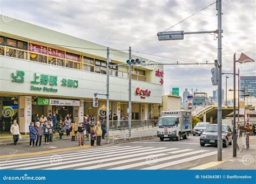
[[[256,97],[256,76],[240,76],[240,90],[245,89],[245,94]],[[244,95],[244,92],[240,92]]]

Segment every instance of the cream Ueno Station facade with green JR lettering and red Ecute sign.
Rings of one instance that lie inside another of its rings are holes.
[[[99,106],[92,107],[94,94],[106,93],[106,46],[17,19],[0,21],[0,131],[9,131],[16,118],[21,132],[27,133],[34,114],[71,114],[77,123],[84,114],[96,120],[106,112],[111,119],[113,114],[126,117],[127,66],[110,69],[110,110],[105,96],[97,96]],[[110,58],[112,64],[129,59],[126,52],[114,49]],[[133,67],[132,119],[154,119],[164,94],[163,75],[158,75],[163,65],[142,59],[151,65]]]

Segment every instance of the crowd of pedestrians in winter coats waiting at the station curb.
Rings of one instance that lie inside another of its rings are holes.
[[[18,139],[21,138],[19,132],[19,125],[17,120],[11,125],[10,132],[14,138],[14,145],[17,145]],[[101,146],[101,139],[105,139],[106,135],[106,119],[103,117],[100,121],[95,121],[95,118],[86,114],[84,115],[84,121],[79,122],[72,121],[71,115],[67,114],[64,119],[57,118],[57,115],[53,113],[48,118],[38,114],[33,115],[32,121],[29,125],[29,137],[31,147],[41,146],[42,137],[44,136],[44,143],[46,145],[53,141],[53,134],[57,133],[59,139],[62,139],[64,133],[66,137],[71,136],[71,141],[77,141],[79,146],[85,145],[85,138],[90,141],[91,146]]]

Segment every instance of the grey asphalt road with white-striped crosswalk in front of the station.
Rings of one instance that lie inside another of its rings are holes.
[[[230,156],[232,146],[223,151],[223,157]],[[0,169],[191,169],[216,160],[217,146],[201,147],[199,136],[189,136],[0,159]]]

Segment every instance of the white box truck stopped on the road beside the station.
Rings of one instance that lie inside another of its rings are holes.
[[[188,138],[192,131],[191,111],[162,111],[158,120],[157,137],[163,141],[165,138],[179,140]]]

